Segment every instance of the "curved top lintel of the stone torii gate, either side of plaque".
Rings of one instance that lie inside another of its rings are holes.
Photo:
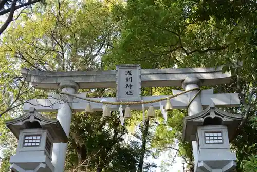
[[[228,83],[230,72],[222,72],[223,66],[215,68],[141,69],[142,87],[181,86],[188,77],[197,77],[203,86]],[[39,89],[59,89],[63,80],[73,80],[80,89],[116,88],[116,70],[52,72],[21,69],[26,81]]]

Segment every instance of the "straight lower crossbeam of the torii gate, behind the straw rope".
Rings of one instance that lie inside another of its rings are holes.
[[[238,94],[237,93],[232,93],[232,94],[208,94],[203,91],[204,94],[201,94],[201,100],[204,100],[202,102],[202,105],[204,108],[207,108],[211,103],[215,103],[217,107],[237,107],[240,104]],[[81,94],[75,94],[78,95],[79,97],[85,98],[85,93]],[[156,100],[159,98],[166,98],[168,95],[161,95],[161,96],[142,96],[143,101],[150,101],[150,100]],[[116,98],[90,98],[93,100],[101,100],[105,99],[106,101],[109,102],[116,102]],[[86,108],[86,104],[88,101],[86,100],[81,100],[78,98],[74,98],[72,100],[71,107],[74,111],[84,111]],[[171,99],[171,104],[174,109],[186,109],[189,103],[189,98],[187,94],[179,95],[178,97],[172,98]],[[93,103],[90,102],[92,108],[95,111],[102,111],[102,104],[100,103]],[[164,106],[166,104],[166,100],[161,101],[161,104]],[[152,104],[155,109],[159,109],[160,105],[159,102],[153,103]],[[30,107],[35,107],[38,111],[42,112],[54,112],[57,111],[58,109],[63,108],[64,101],[60,99],[59,95],[56,94],[51,94],[48,99],[32,99],[29,101],[29,103],[25,103],[23,106],[24,111],[28,111]],[[150,104],[145,104],[145,109],[147,109]],[[125,105],[124,105],[125,107]],[[110,105],[109,108],[112,111],[118,111],[119,105]],[[142,105],[133,105],[130,106],[132,110],[142,109]]]

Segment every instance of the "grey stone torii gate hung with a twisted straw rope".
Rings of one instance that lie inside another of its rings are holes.
[[[128,72],[130,71],[130,72]],[[151,101],[162,96],[141,96],[141,87],[172,87],[182,86],[191,90],[201,86],[214,86],[228,83],[231,79],[230,72],[222,72],[222,66],[216,68],[181,68],[181,69],[141,69],[140,65],[117,65],[116,70],[107,71],[75,71],[75,72],[42,72],[25,68],[22,74],[26,81],[38,89],[61,89],[63,93],[74,94],[85,98],[85,93],[76,94],[79,89],[87,88],[116,88],[116,98],[90,98],[108,102],[117,101]],[[128,72],[128,73],[127,73]],[[127,77],[131,78],[127,78]],[[125,79],[126,78],[126,79]],[[131,87],[127,88],[127,81],[131,81]],[[132,86],[133,85],[133,86]],[[125,89],[127,88],[127,91]],[[173,90],[173,94],[181,91]],[[213,94],[213,89],[203,90],[197,95],[198,90],[188,92],[172,98],[174,109],[187,109],[189,116],[203,111],[204,108],[214,103],[215,107],[236,107],[240,104],[237,93]],[[63,100],[65,97],[65,100]],[[195,97],[195,98],[194,98]],[[193,99],[194,98],[194,99]],[[193,101],[191,102],[191,100]],[[189,102],[190,105],[189,105]],[[62,125],[66,135],[69,135],[72,110],[84,111],[88,101],[72,96],[51,94],[48,99],[32,99],[24,104],[24,111],[28,112],[34,107],[39,112],[56,112],[57,119]],[[102,111],[99,103],[90,103],[95,111]],[[164,105],[165,102],[161,101]],[[159,102],[151,104],[155,109],[160,108]],[[189,106],[188,106],[189,105]],[[150,104],[145,104],[149,107]],[[131,109],[142,109],[141,105],[131,106]],[[72,110],[71,110],[72,109]],[[111,111],[118,111],[118,105],[109,106]],[[64,171],[66,143],[54,143],[52,152],[52,164],[56,172]]]

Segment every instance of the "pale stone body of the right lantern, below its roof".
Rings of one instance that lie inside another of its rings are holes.
[[[222,143],[206,143],[205,134],[210,132],[220,132]],[[227,126],[200,126],[197,129],[196,140],[197,142],[193,142],[196,172],[229,172],[236,167],[236,155],[230,150]]]

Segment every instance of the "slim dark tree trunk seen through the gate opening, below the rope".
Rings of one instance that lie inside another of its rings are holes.
[[[143,171],[143,163],[144,163],[144,154],[145,154],[145,147],[146,147],[146,141],[147,141],[147,135],[148,135],[148,129],[149,129],[149,117],[145,121],[145,128],[143,129],[143,136],[142,136],[142,147],[140,152],[140,159],[138,164],[138,172]]]

